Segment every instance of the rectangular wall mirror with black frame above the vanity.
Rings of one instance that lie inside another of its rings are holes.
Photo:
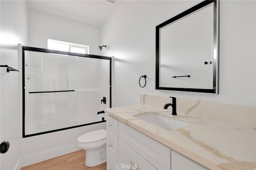
[[[156,89],[218,94],[217,2],[156,26]]]

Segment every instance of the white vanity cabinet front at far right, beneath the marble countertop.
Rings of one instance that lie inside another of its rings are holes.
[[[172,170],[209,170],[198,162],[172,150]]]

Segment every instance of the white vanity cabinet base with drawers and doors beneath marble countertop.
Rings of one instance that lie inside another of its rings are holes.
[[[106,129],[107,170],[209,170],[110,115]]]

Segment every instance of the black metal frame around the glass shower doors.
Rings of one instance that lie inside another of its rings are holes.
[[[110,108],[111,108],[111,65],[112,65],[112,57],[106,57],[106,56],[100,56],[100,55],[91,55],[91,54],[80,54],[80,53],[72,53],[72,52],[66,52],[66,51],[58,51],[58,50],[50,50],[50,49],[42,49],[42,48],[36,48],[36,47],[27,47],[22,46],[22,138],[26,137],[32,137],[37,135],[43,135],[46,133],[52,133],[57,131],[63,131],[67,129],[73,129],[76,127],[82,127],[87,125],[93,125],[97,123],[103,123],[106,122],[106,120],[92,122],[92,123],[86,123],[83,125],[76,125],[71,127],[65,127],[61,129],[55,129],[51,131],[45,131],[40,133],[34,133],[30,135],[25,135],[25,51],[34,51],[34,52],[41,52],[41,53],[51,53],[51,54],[60,54],[60,55],[69,55],[69,56],[76,56],[76,57],[86,57],[86,58],[93,58],[93,59],[103,59],[103,60],[109,60],[110,61],[110,82],[109,82],[109,92],[110,92]]]

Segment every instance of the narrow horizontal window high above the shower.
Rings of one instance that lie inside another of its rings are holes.
[[[48,49],[89,54],[89,46],[48,39]]]

